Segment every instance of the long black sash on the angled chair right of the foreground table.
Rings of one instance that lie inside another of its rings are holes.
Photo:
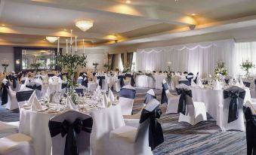
[[[140,116],[140,123],[143,123],[145,120],[150,119],[149,126],[149,146],[151,150],[154,150],[156,146],[164,142],[164,135],[162,132],[162,126],[157,121],[161,117],[162,111],[156,109],[152,112],[143,109]]]

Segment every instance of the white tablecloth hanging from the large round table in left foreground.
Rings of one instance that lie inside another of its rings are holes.
[[[123,120],[120,121],[119,117],[116,117],[116,114],[120,113],[120,106],[113,105],[111,108],[106,108],[103,110],[97,111],[98,114],[104,111],[111,114],[109,117],[104,117],[104,124],[109,124],[109,126],[123,126]],[[36,155],[50,155],[51,154],[51,135],[48,129],[48,122],[51,117],[54,117],[57,113],[44,113],[44,112],[34,112],[31,110],[26,110],[25,108],[20,108],[20,133],[29,135],[32,137],[35,154]],[[94,119],[94,117],[93,117]],[[94,120],[95,121],[95,120]],[[97,121],[100,123],[102,120],[97,118]],[[105,128],[104,126],[103,128]],[[95,127],[93,127],[93,130]],[[92,131],[95,133],[96,131]],[[106,132],[106,129],[103,130],[103,133]],[[109,131],[110,132],[110,131]],[[94,141],[100,141],[100,136],[103,135],[101,130],[97,130],[95,134],[97,138]]]

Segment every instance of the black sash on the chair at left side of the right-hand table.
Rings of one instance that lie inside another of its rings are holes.
[[[192,91],[184,88],[177,88],[177,95],[180,95],[179,105],[177,106],[177,113],[186,114],[187,96],[192,98]]]

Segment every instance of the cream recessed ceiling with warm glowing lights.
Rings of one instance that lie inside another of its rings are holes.
[[[192,15],[196,14],[196,15]],[[0,0],[0,45],[113,47],[256,26],[255,0]],[[82,32],[77,20],[93,20]]]

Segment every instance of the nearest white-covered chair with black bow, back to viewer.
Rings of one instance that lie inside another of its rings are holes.
[[[91,154],[90,135],[93,120],[78,111],[66,111],[49,120],[48,126],[52,141],[52,154]],[[62,126],[66,128],[62,130]],[[66,138],[64,135],[66,135]],[[76,143],[75,147],[72,147]]]

